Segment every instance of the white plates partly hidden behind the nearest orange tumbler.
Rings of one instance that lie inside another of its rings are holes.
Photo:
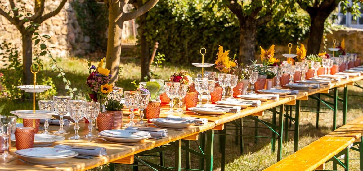
[[[12,141],[15,141],[15,135],[11,135],[10,138]],[[51,146],[54,142],[62,141],[65,138],[57,135],[49,135],[49,134],[35,134],[34,135],[34,147],[44,147]]]

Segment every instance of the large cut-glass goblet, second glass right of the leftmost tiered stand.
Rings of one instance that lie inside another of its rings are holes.
[[[70,96],[54,96],[53,97],[54,111],[57,111],[60,116],[60,119],[59,119],[60,128],[57,132],[54,132],[54,134],[69,134],[69,132],[67,132],[63,129],[63,125],[64,125],[63,117],[69,111],[68,102],[71,99],[72,98]]]

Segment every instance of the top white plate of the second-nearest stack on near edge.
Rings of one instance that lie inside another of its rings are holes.
[[[109,136],[114,138],[129,138],[129,139],[139,139],[149,136],[150,133],[139,130],[103,130],[99,132],[100,135]]]

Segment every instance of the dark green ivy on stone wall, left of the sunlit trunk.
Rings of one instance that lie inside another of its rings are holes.
[[[95,0],[79,0],[72,2],[76,11],[77,21],[84,36],[90,37],[90,51],[105,51],[107,37],[105,31],[108,26],[108,9],[105,4]]]

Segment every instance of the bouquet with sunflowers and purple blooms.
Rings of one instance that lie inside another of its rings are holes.
[[[105,104],[107,95],[113,91],[113,85],[109,84],[112,75],[109,69],[103,68],[104,61],[105,58],[98,63],[97,68],[88,63],[90,75],[86,80],[87,92],[90,98],[94,102],[100,102],[101,105]]]

